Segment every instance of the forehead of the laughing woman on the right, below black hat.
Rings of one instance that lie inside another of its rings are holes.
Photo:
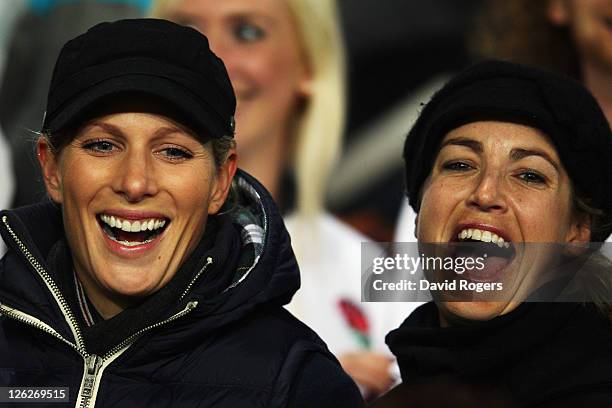
[[[483,152],[506,152],[512,149],[537,149],[559,160],[557,149],[541,130],[511,122],[479,121],[461,125],[446,133],[441,147],[453,145],[457,139],[472,140]],[[466,143],[468,145],[469,143]]]

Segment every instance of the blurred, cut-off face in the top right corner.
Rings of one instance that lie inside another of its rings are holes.
[[[612,0],[551,0],[549,19],[569,27],[584,62],[612,72]]]

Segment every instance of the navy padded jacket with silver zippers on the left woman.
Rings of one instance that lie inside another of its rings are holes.
[[[91,327],[75,310],[59,209],[0,213],[0,386],[69,387],[70,406],[360,406],[325,344],[282,307],[299,272],[277,209],[251,177],[237,180],[237,208],[207,227],[215,239],[156,294]]]

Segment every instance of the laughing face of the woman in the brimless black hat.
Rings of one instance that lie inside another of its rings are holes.
[[[450,131],[441,146],[423,187],[416,231],[420,242],[480,241],[485,236],[498,241],[498,247],[506,246],[499,238],[510,245],[588,242],[588,227],[572,211],[569,177],[542,132],[514,123],[473,122]],[[511,264],[513,276],[504,276],[507,265],[500,259],[471,276],[481,282],[505,280],[507,300],[443,302],[442,317],[486,320],[514,309],[550,262],[538,255]]]

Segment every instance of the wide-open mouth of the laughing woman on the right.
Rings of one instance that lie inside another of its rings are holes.
[[[516,256],[512,242],[488,230],[463,228],[452,242],[455,258],[477,260],[464,270],[474,282],[499,281],[502,271]]]

